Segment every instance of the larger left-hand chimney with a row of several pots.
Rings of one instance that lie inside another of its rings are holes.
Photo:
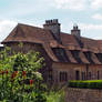
[[[58,19],[53,20],[45,20],[45,24],[43,24],[43,28],[47,30],[50,30],[53,33],[54,39],[61,43],[60,39],[60,23]]]

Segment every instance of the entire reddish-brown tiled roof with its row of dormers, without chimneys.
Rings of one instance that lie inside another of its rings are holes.
[[[2,44],[6,44],[8,42],[41,43],[48,55],[55,62],[61,62],[61,59],[63,59],[64,62],[70,63],[102,63],[102,60],[100,60],[98,55],[98,53],[102,53],[101,40],[92,40],[81,37],[79,42],[74,35],[63,32],[60,33],[60,37],[62,43],[59,43],[53,38],[50,30],[19,23],[12,30],[12,32],[2,41]],[[59,50],[59,48],[61,49]],[[76,51],[79,52],[78,57],[75,57]],[[85,53],[89,52],[91,53],[91,55],[86,57]],[[60,54],[60,57],[58,53]]]

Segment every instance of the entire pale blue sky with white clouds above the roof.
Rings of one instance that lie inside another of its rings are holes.
[[[49,19],[63,32],[78,23],[82,37],[102,39],[102,0],[0,0],[0,42],[18,22],[42,27]]]

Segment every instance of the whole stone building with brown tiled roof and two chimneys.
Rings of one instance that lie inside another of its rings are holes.
[[[102,79],[102,41],[81,37],[78,26],[71,34],[62,32],[60,26],[58,19],[47,20],[43,28],[19,23],[2,44],[23,53],[39,51],[45,59],[41,72],[48,82]]]

